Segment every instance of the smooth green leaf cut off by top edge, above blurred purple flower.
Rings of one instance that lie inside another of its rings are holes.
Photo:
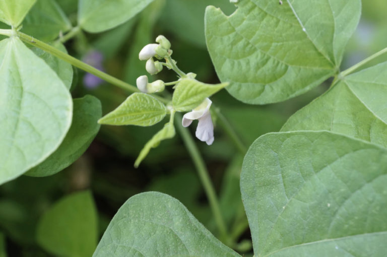
[[[97,33],[114,28],[141,12],[154,0],[80,0],[78,23]]]

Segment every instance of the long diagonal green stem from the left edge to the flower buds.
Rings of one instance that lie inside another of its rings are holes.
[[[128,84],[128,83],[126,83],[122,80],[119,80],[113,76],[110,76],[109,74],[104,73],[98,69],[95,69],[94,67],[88,65],[87,63],[85,63],[77,58],[74,58],[73,56],[71,56],[65,52],[62,52],[59,49],[56,49],[55,47],[53,47],[49,44],[46,44],[43,41],[40,41],[40,40],[38,40],[34,37],[31,37],[27,34],[24,34],[22,32],[16,32],[14,30],[5,30],[5,29],[0,29],[0,34],[10,36],[10,37],[11,36],[18,36],[24,42],[29,43],[33,46],[39,47],[40,49],[52,54],[53,56],[58,57],[59,59],[62,59],[64,61],[67,61],[71,65],[73,65],[81,70],[84,70],[87,73],[93,74],[93,75],[103,79],[104,81],[106,81],[112,85],[115,85],[119,88],[127,90],[128,92],[131,92],[131,93],[141,92],[137,87],[132,86],[131,84]],[[157,96],[157,95],[153,95],[153,97],[157,98],[158,100],[160,100],[164,103],[169,102],[168,99],[165,99],[165,98]]]

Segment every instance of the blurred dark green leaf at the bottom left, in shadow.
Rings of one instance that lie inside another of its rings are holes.
[[[36,239],[46,251],[63,257],[90,257],[97,245],[97,210],[89,191],[55,203],[40,219]]]

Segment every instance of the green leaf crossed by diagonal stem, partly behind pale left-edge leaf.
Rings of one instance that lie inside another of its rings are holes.
[[[51,45],[62,52],[67,53],[66,47],[64,47],[62,43],[53,42]],[[69,62],[59,59],[38,47],[33,47],[31,50],[47,63],[47,65],[58,75],[68,89],[71,88],[74,70],[73,66]]]

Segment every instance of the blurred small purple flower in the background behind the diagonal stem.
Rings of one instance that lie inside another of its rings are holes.
[[[93,66],[94,68],[104,71],[102,66],[103,55],[101,52],[97,50],[89,51],[84,57],[83,61],[88,65]],[[83,77],[83,84],[88,89],[93,89],[101,85],[103,80],[93,74],[87,73],[85,77]]]

